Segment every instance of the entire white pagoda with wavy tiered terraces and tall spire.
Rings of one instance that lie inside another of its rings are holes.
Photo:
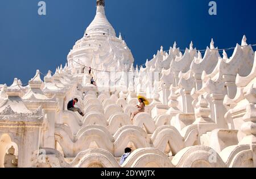
[[[204,57],[193,43],[184,53],[175,43],[168,52],[161,47],[146,68],[128,72],[112,61],[131,53],[115,38],[104,5],[97,0],[96,18],[68,65],[44,81],[37,70],[28,86],[17,78],[0,85],[0,167],[17,167],[18,159],[18,167],[255,168],[256,56],[246,37],[230,58],[213,40]],[[110,79],[109,72],[93,72],[98,81],[116,82],[100,90],[72,59],[95,68],[113,62],[123,72]],[[138,95],[150,105],[131,120]],[[84,116],[67,110],[72,98]],[[119,165],[126,147],[133,152]]]

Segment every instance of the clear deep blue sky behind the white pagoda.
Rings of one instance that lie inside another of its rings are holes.
[[[96,13],[96,0],[45,0],[47,15],[38,15],[39,0],[0,1],[0,84],[18,77],[26,84],[40,69],[46,73],[65,64],[69,50]],[[106,0],[106,15],[122,32],[135,64],[174,41],[180,48],[193,40],[205,49],[241,44],[243,34],[256,43],[255,0],[218,0],[217,15],[208,14],[210,0]],[[255,49],[254,49],[255,50]],[[229,54],[230,55],[230,54]]]

